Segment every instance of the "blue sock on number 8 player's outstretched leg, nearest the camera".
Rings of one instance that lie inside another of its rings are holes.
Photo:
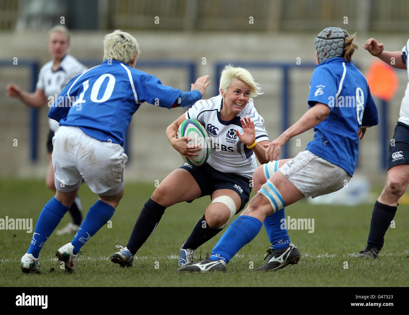
[[[260,232],[263,224],[255,217],[240,215],[214,246],[210,260],[224,260],[227,263],[236,253],[251,242]]]

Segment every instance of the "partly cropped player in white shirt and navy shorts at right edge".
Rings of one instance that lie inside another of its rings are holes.
[[[379,44],[373,38],[364,44],[364,49],[371,55],[398,69],[407,69],[408,47],[409,40],[402,51],[384,51],[383,44]],[[392,60],[394,62],[391,62]],[[384,244],[385,233],[398,209],[398,200],[405,193],[409,183],[409,83],[400,105],[399,120],[392,139],[395,140],[395,145],[393,146],[392,142],[389,145],[386,184],[373,207],[367,245],[357,257],[378,258]]]

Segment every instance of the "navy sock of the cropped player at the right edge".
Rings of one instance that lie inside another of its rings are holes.
[[[389,225],[391,225],[391,221],[395,217],[397,209],[398,207],[382,204],[378,202],[378,200],[375,202],[367,241],[368,245],[378,248],[379,250],[382,249],[385,233]]]

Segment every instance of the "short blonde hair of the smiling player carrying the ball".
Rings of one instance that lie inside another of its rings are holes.
[[[254,82],[249,71],[243,68],[235,68],[231,64],[228,64],[222,71],[219,90],[226,92],[234,79],[240,80],[250,87],[250,98],[254,98],[264,93],[261,92],[260,84]]]

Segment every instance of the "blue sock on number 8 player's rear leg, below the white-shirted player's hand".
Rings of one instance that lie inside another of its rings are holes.
[[[290,244],[285,224],[284,208],[269,215],[264,220],[265,231],[274,250],[284,249]]]

